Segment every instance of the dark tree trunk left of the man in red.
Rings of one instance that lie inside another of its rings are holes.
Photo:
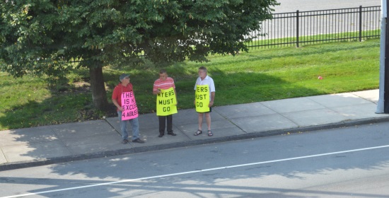
[[[96,109],[106,111],[108,110],[107,92],[105,91],[103,79],[103,67],[89,68],[91,76],[91,91],[93,105]]]

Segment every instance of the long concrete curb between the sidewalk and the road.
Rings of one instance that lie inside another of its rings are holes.
[[[170,148],[182,148],[187,146],[197,146],[204,144],[215,144],[226,141],[236,141],[243,139],[252,139],[252,138],[260,138],[265,136],[277,136],[277,135],[285,135],[285,134],[297,134],[303,132],[312,132],[312,131],[320,131],[325,129],[336,129],[342,127],[353,127],[356,125],[365,125],[365,124],[376,124],[381,122],[389,122],[389,117],[376,117],[376,118],[367,118],[367,119],[359,119],[359,120],[344,120],[342,122],[335,122],[331,124],[319,124],[315,126],[308,127],[296,127],[291,129],[276,129],[267,132],[252,132],[248,134],[240,134],[233,136],[225,136],[214,139],[201,139],[201,140],[192,140],[192,141],[182,141],[178,143],[170,143],[170,144],[162,144],[155,146],[141,146],[135,148],[126,148],[120,149],[116,151],[104,151],[98,153],[88,153],[76,156],[62,156],[55,158],[46,158],[37,161],[21,161],[17,163],[3,163],[0,165],[0,171],[3,170],[14,170],[19,168],[30,168],[40,165],[51,165],[55,163],[66,163],[71,161],[83,161],[88,159],[95,158],[107,158],[111,156],[122,156],[130,153],[144,153],[149,151],[159,151],[166,150]]]

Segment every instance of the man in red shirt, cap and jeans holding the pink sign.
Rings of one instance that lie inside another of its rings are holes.
[[[132,126],[132,142],[144,143],[139,139],[139,122],[138,117],[131,120],[122,120],[122,93],[132,92],[132,83],[129,82],[129,74],[122,74],[119,77],[120,83],[112,92],[112,103],[117,107],[117,115],[120,121],[120,130],[122,131],[122,144],[128,143],[127,123]]]

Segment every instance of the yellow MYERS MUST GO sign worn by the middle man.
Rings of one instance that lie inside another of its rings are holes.
[[[161,89],[157,94],[157,115],[166,116],[177,113],[177,98],[173,88]]]

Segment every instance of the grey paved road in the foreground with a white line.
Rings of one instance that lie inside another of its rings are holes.
[[[0,197],[389,197],[388,128],[368,124],[8,170],[0,172]]]

